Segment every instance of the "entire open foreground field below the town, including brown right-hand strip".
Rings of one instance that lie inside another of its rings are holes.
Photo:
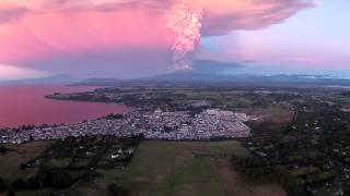
[[[244,182],[230,156],[248,156],[238,142],[143,142],[124,171],[98,170],[93,184],[74,195],[105,192],[115,182],[131,196],[285,196],[277,184]]]

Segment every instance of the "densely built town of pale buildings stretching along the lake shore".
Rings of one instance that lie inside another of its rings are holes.
[[[91,135],[142,135],[145,139],[164,140],[242,138],[250,136],[250,128],[244,124],[246,121],[246,113],[219,109],[208,109],[197,114],[190,114],[189,111],[163,112],[160,109],[153,112],[131,111],[124,115],[89,120],[73,125],[0,132],[0,143],[22,144]]]

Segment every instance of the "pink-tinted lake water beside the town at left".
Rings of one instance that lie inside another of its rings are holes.
[[[95,87],[65,85],[0,86],[0,127],[23,124],[71,124],[108,113],[126,112],[124,105],[45,99],[54,93],[93,90]]]

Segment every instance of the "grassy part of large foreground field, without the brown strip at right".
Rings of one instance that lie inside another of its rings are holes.
[[[105,180],[125,186],[131,196],[221,195],[212,156],[226,155],[229,162],[233,154],[248,156],[237,142],[143,142],[126,170],[100,172]]]

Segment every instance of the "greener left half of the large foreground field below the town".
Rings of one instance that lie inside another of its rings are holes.
[[[171,192],[175,143],[142,143],[119,181],[132,195],[163,196]]]

